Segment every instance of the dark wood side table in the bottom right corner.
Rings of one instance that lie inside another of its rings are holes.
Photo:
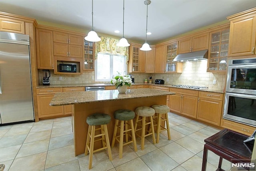
[[[247,135],[229,129],[223,129],[205,139],[202,171],[206,171],[208,150],[220,156],[216,171],[224,171],[221,169],[222,159],[226,159],[232,163],[251,162],[253,145],[244,144],[243,141],[247,138]]]

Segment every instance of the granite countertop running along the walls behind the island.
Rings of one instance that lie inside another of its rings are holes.
[[[132,85],[157,85],[157,86],[163,86],[163,87],[171,87],[171,88],[181,88],[181,89],[190,89],[185,87],[173,87],[171,84],[151,84],[151,83],[135,83]],[[36,88],[58,88],[58,87],[93,87],[93,86],[114,86],[113,84],[51,84],[51,85],[38,85]],[[216,90],[216,89],[190,89],[195,91],[206,91],[206,92],[212,92],[212,93],[224,93],[223,89]]]

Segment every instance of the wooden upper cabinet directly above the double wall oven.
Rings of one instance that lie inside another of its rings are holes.
[[[254,55],[256,8],[227,17],[230,20],[228,56]]]

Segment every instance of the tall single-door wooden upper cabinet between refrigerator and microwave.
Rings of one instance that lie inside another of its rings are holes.
[[[36,56],[38,69],[54,69],[53,34],[51,30],[36,28]]]

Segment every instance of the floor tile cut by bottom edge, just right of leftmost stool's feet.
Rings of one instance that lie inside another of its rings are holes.
[[[116,171],[151,171],[139,157],[116,167]]]

